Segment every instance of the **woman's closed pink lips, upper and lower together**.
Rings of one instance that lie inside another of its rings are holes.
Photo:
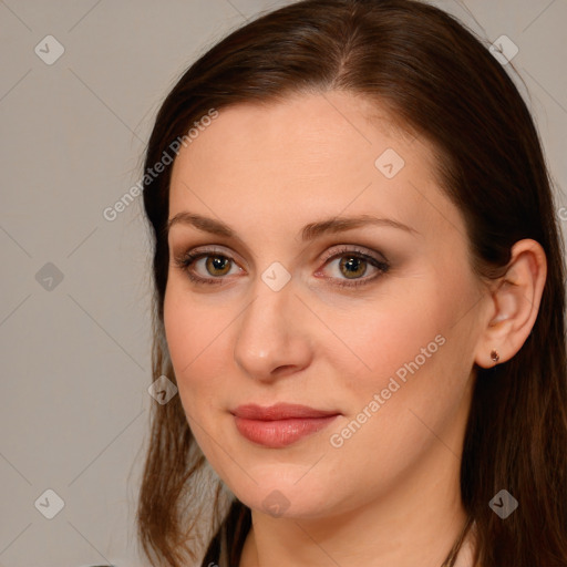
[[[268,408],[256,404],[234,410],[238,432],[248,441],[270,449],[281,449],[327,427],[337,411],[316,410],[307,405],[278,403]]]

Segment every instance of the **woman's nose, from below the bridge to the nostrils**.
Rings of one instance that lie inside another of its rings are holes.
[[[311,362],[313,316],[296,296],[292,281],[274,291],[258,278],[254,299],[239,318],[235,361],[255,380],[269,383]]]

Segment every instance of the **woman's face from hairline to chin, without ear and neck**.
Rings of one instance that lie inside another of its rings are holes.
[[[181,400],[213,468],[272,515],[458,491],[485,302],[431,147],[377,112],[337,92],[234,106],[174,164]],[[327,416],[244,408],[281,403]]]

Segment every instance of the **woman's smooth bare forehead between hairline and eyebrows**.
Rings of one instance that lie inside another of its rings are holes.
[[[179,152],[169,199],[169,217],[214,210],[231,225],[254,220],[258,231],[342,213],[417,230],[458,216],[439,189],[431,146],[377,103],[338,92],[221,109]]]

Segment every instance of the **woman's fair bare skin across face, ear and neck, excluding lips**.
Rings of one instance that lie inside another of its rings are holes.
[[[405,162],[392,178],[374,165],[386,148]],[[164,322],[195,439],[252,511],[241,567],[439,567],[464,525],[458,468],[474,364],[493,365],[492,349],[501,362],[519,350],[546,261],[537,243],[522,240],[508,274],[483,284],[433,159],[385,109],[339,92],[221,110],[176,158],[169,218],[190,212],[237,235],[171,227]],[[412,231],[370,225],[301,241],[309,223],[360,214]],[[213,257],[234,264],[207,271],[200,258],[187,269],[221,284],[192,282],[174,258],[213,245]],[[352,281],[339,265],[351,255],[323,257],[339,245],[390,268],[363,262],[355,274],[368,284],[340,288]],[[261,279],[275,261],[291,276],[279,291]],[[436,352],[333,446],[331,435],[437,336]],[[281,401],[341,415],[285,449],[240,436],[230,410]],[[286,498],[277,517],[264,504],[275,489]]]

